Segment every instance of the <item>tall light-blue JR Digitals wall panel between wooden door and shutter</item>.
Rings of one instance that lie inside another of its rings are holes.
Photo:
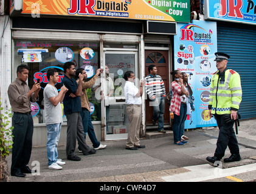
[[[185,129],[216,126],[210,118],[208,103],[212,75],[217,71],[216,22],[192,21],[177,24],[175,35],[175,70],[187,73],[188,82],[195,98],[195,112],[185,121]]]

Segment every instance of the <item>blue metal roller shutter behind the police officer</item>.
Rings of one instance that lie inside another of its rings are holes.
[[[228,25],[233,25],[228,26]],[[254,28],[253,28],[254,27]],[[227,67],[241,76],[241,119],[256,117],[256,30],[255,25],[218,24],[218,52],[230,55]]]

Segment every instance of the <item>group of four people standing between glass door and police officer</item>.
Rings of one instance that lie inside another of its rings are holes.
[[[126,99],[126,112],[130,121],[130,127],[128,130],[128,141],[126,149],[137,150],[142,148],[139,145],[139,130],[141,121],[141,96],[143,88],[147,92],[150,104],[153,106],[153,125],[158,122],[158,132],[166,133],[164,130],[164,110],[165,110],[165,86],[161,76],[157,75],[156,65],[148,66],[148,75],[140,82],[140,89],[134,85],[134,73],[128,71],[125,73],[125,99]],[[184,145],[188,142],[185,139],[189,139],[184,135],[184,123],[187,115],[191,115],[192,110],[195,110],[193,101],[191,100],[193,92],[188,83],[187,74],[179,70],[171,72],[173,75],[173,82],[171,82],[171,98],[170,109],[174,116],[173,124],[173,137],[174,143],[177,145]],[[129,116],[132,115],[132,116]],[[136,119],[134,119],[136,115]],[[131,119],[133,118],[133,119]],[[136,124],[134,124],[136,123]],[[136,130],[136,132],[134,132]],[[145,146],[143,146],[144,148]]]

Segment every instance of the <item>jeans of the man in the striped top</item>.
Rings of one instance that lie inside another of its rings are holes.
[[[153,120],[158,120],[158,131],[164,130],[164,96],[158,96],[150,103],[153,105]]]

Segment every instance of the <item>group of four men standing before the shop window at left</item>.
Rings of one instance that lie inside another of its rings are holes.
[[[67,141],[66,156],[72,161],[80,161],[80,157],[74,154],[76,142],[78,149],[83,155],[91,155],[96,150],[104,149],[96,138],[94,127],[89,114],[89,101],[86,89],[90,88],[99,77],[100,69],[95,73],[94,78],[85,82],[87,75],[84,69],[75,70],[73,62],[66,62],[63,67],[64,78],[61,82],[61,89],[58,92],[57,84],[59,76],[54,68],[47,71],[48,84],[44,88],[44,110],[45,122],[47,127],[47,158],[49,169],[60,170],[66,162],[58,158],[58,140],[60,138],[62,109],[61,102],[64,104],[64,114],[67,118]],[[77,80],[72,78],[77,77]],[[33,119],[31,115],[31,102],[36,102],[38,93],[41,90],[39,82],[33,84],[32,89],[27,85],[29,77],[29,67],[21,64],[17,68],[17,78],[8,89],[10,104],[13,110],[13,149],[11,175],[24,177],[26,173],[32,173],[27,166],[32,151]],[[86,133],[92,141],[91,149],[85,141]]]

